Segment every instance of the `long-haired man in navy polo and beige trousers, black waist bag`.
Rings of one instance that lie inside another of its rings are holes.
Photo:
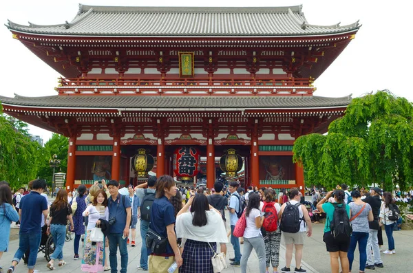
[[[162,254],[154,254],[148,249],[149,272],[165,273],[176,262],[182,265],[182,257],[176,243],[175,214],[169,199],[176,195],[176,184],[169,175],[162,175],[156,182],[156,199],[151,208],[150,230],[158,233],[162,238],[168,238],[167,250]],[[178,272],[178,268],[175,272]]]

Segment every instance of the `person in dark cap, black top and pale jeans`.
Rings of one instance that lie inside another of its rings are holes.
[[[367,263],[366,268],[373,269],[374,267],[383,267],[383,261],[380,258],[379,241],[377,232],[379,231],[379,213],[381,207],[381,188],[374,187],[370,190],[370,196],[362,199],[372,207],[374,220],[368,222],[369,232],[367,241]],[[372,259],[372,250],[374,254],[374,263]]]

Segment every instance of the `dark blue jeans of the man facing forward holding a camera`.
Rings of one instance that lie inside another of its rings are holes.
[[[107,239],[109,239],[109,262],[111,273],[118,272],[118,246],[120,252],[120,273],[126,273],[127,271],[127,245],[126,238],[122,239],[123,233],[109,233]]]

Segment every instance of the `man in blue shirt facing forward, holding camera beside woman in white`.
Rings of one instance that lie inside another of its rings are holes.
[[[127,245],[129,226],[131,223],[131,201],[126,195],[119,193],[119,182],[110,180],[107,183],[110,197],[107,200],[109,208],[109,262],[112,273],[118,272],[117,251],[120,252],[120,273],[127,272]]]

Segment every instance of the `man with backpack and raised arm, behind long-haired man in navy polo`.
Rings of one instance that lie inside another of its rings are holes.
[[[149,176],[148,182],[140,184],[135,187],[136,196],[140,200],[140,205],[138,207],[138,214],[140,214],[140,237],[142,237],[142,247],[140,248],[140,265],[138,265],[139,270],[148,270],[148,250],[145,243],[146,236],[149,228],[149,223],[151,221],[151,208],[153,201],[155,201],[156,193],[156,176]],[[148,188],[145,188],[145,187]]]

